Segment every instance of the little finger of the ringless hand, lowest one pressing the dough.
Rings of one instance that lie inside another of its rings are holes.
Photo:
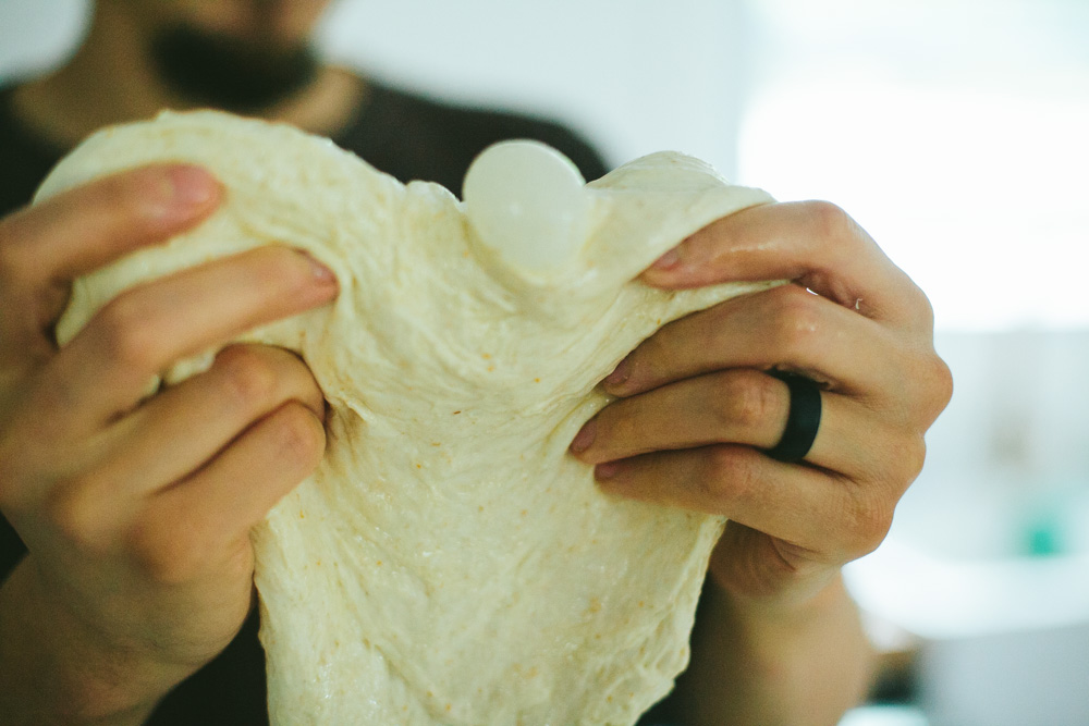
[[[152,494],[131,546],[158,576],[189,579],[308,477],[323,450],[314,411],[285,404],[191,478]]]

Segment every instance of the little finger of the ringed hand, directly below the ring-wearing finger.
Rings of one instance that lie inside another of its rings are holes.
[[[847,562],[876,549],[898,499],[878,485],[859,487],[735,445],[611,462],[598,466],[597,477],[605,492],[724,515],[827,562]]]

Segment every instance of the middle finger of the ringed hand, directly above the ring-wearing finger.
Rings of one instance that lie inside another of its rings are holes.
[[[780,368],[846,395],[889,396],[902,387],[900,339],[879,323],[795,285],[726,300],[675,320],[643,342],[603,381],[628,396],[723,368]],[[907,353],[904,353],[906,356]]]

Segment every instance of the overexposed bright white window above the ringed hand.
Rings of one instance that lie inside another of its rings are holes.
[[[743,183],[847,209],[941,328],[1089,323],[1089,3],[755,11]]]

